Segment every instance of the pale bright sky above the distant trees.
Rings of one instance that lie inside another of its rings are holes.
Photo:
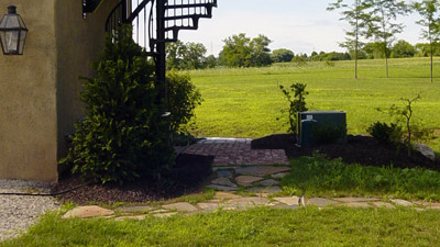
[[[183,42],[202,43],[208,55],[218,55],[223,40],[239,33],[255,37],[264,34],[273,41],[271,49],[288,48],[295,54],[311,52],[344,52],[338,43],[344,41],[344,30],[350,26],[339,21],[339,10],[329,12],[334,0],[218,0],[212,19],[202,19],[198,31],[180,31]],[[400,18],[406,27],[398,40],[411,44],[419,38],[420,19],[416,13]]]

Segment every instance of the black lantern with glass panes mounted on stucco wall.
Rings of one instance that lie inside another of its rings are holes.
[[[8,7],[8,14],[0,21],[0,44],[3,54],[23,55],[26,34],[26,25],[20,14],[16,14],[16,7]]]

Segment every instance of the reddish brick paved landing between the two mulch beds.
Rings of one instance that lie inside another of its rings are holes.
[[[176,147],[176,151],[215,156],[213,166],[288,165],[283,149],[252,149],[250,138],[209,137],[189,147]]]

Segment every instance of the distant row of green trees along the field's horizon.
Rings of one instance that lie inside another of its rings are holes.
[[[271,50],[268,45],[271,40],[264,35],[256,38],[246,37],[245,34],[232,35],[224,40],[226,45],[218,57],[213,55],[206,56],[207,48],[200,43],[183,43],[180,41],[167,44],[167,67],[168,69],[190,70],[206,69],[218,66],[231,68],[263,67],[273,63],[307,63],[307,61],[337,61],[354,60],[355,53],[358,59],[384,59],[383,44],[381,42],[371,42],[363,44],[355,50],[341,52],[312,52],[307,54],[295,54],[287,48]],[[428,57],[431,54],[429,43],[419,43],[411,45],[400,40],[387,49],[387,57]],[[433,56],[440,56],[440,44],[432,46]]]

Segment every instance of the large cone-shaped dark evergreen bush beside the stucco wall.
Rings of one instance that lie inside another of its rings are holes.
[[[86,117],[76,124],[73,147],[62,162],[102,183],[160,179],[174,161],[168,125],[156,104],[154,65],[132,40],[130,26],[107,36],[95,78],[85,78]]]

